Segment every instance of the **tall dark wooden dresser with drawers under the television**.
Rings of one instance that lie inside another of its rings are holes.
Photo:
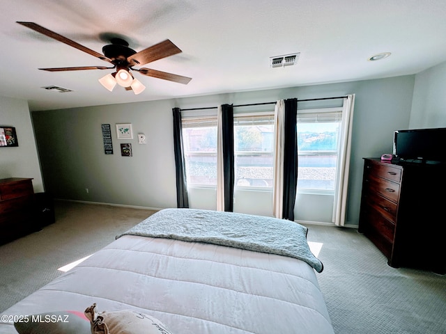
[[[446,165],[364,159],[359,232],[391,267],[446,273]]]

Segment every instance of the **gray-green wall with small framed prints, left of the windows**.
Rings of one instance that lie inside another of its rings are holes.
[[[47,191],[70,200],[176,206],[172,106],[160,101],[34,112]],[[134,138],[118,140],[116,123],[132,123]],[[114,154],[104,153],[102,124],[112,127]],[[137,143],[139,133],[145,145]],[[121,157],[121,143],[132,144],[132,157]]]

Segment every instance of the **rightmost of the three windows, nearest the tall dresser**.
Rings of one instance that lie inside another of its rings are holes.
[[[298,191],[333,193],[341,108],[298,111]]]

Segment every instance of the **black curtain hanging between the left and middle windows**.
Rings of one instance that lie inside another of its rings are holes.
[[[222,104],[224,211],[233,211],[234,197],[234,114],[233,106]]]

